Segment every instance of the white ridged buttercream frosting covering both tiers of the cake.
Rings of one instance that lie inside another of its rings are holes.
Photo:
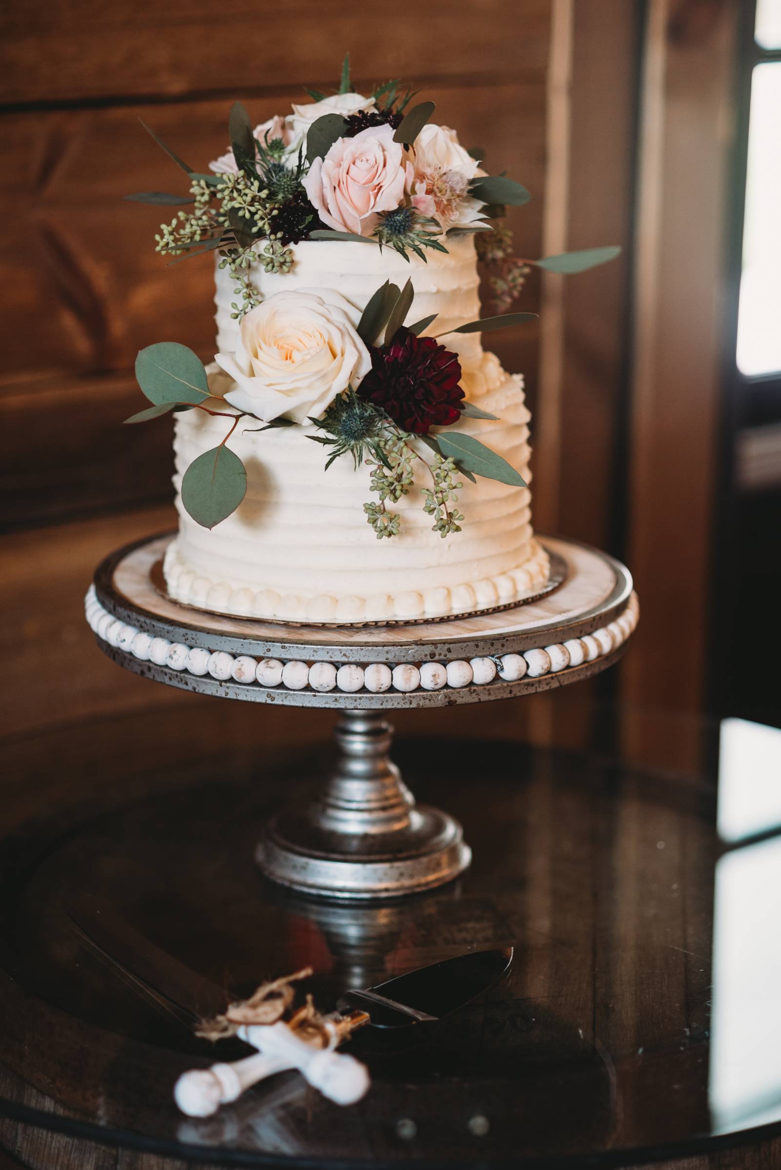
[[[295,246],[288,275],[254,270],[267,297],[282,289],[337,288],[357,309],[385,281],[401,285],[408,276],[415,288],[409,322],[437,312],[427,333],[479,316],[478,276],[471,236],[448,240],[450,252],[414,255],[408,264],[392,249],[345,242]],[[235,345],[237,323],[230,318],[236,300],[226,270],[217,269],[217,346]],[[458,429],[475,435],[516,467],[528,482],[528,411],[523,379],[504,372],[492,353],[484,353],[477,333],[443,338],[462,362],[466,399],[497,415],[497,421],[462,419]],[[231,383],[216,367],[213,392]],[[251,419],[240,424],[231,449],[247,468],[247,495],[239,509],[214,529],[196,524],[179,494],[181,476],[202,452],[216,446],[226,420],[188,411],[177,415],[177,507],[179,536],[168,548],[165,576],[179,601],[221,613],[289,621],[360,622],[444,617],[512,604],[539,590],[548,576],[547,553],[534,539],[528,488],[478,477],[464,479],[458,510],[462,531],[442,539],[422,510],[421,488],[430,475],[417,466],[415,483],[394,510],[400,534],[378,541],[366,522],[369,491],[367,467],[352,459],[325,468],[324,448],[311,441],[311,426],[253,433]],[[426,455],[427,448],[421,448]]]

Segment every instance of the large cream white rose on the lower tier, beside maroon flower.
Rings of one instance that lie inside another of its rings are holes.
[[[215,360],[235,387],[226,401],[271,422],[319,418],[372,367],[358,311],[332,289],[276,292],[242,317],[235,353]]]

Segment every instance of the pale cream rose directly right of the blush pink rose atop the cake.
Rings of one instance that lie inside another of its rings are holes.
[[[468,227],[482,218],[484,204],[468,193],[478,163],[450,126],[427,123],[415,139],[413,207],[437,220],[443,232]]]

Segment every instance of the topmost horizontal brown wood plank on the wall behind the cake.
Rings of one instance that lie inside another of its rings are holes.
[[[545,68],[548,0],[8,0],[0,37],[0,101],[76,102],[336,87],[351,50],[353,78],[417,84]],[[298,90],[300,92],[300,90]],[[304,98],[306,101],[306,98]]]

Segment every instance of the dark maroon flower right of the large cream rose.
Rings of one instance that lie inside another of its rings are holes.
[[[401,326],[393,340],[372,350],[372,369],[358,393],[389,414],[402,431],[426,435],[461,418],[464,392],[458,356],[433,337]]]

